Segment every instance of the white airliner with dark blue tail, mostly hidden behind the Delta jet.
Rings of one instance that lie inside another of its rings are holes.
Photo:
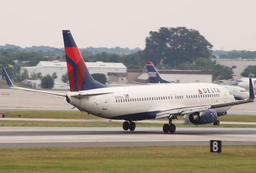
[[[168,81],[163,80],[161,78],[158,70],[156,70],[156,67],[154,66],[154,64],[152,62],[147,61],[146,65],[147,65],[147,68],[148,68],[148,76],[149,76],[149,81],[150,81],[149,84],[156,84],[156,83],[166,83],[166,84],[168,84],[168,83],[171,83],[171,82],[168,82]],[[244,82],[243,84],[247,84],[249,86],[249,80],[247,80],[246,82]],[[222,86],[227,88],[232,93],[232,95],[234,96],[234,98],[236,100],[243,100],[243,99],[248,99],[249,98],[250,93],[242,87],[227,86],[227,85],[222,85]]]

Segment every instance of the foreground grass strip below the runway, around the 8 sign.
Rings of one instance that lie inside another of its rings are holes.
[[[0,149],[0,173],[254,173],[255,145]]]

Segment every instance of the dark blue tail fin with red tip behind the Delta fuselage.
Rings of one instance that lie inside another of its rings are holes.
[[[171,83],[166,80],[163,80],[160,77],[160,74],[158,73],[158,71],[156,70],[156,67],[151,61],[147,61],[146,64],[148,68],[148,76],[149,76],[150,83]]]

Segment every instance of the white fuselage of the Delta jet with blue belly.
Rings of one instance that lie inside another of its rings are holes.
[[[83,99],[72,95],[108,93]],[[234,101],[228,89],[216,84],[159,84],[122,86],[68,92],[70,104],[93,115],[108,119],[154,119],[155,113],[176,106],[210,105]],[[230,107],[215,109],[227,111]],[[152,114],[152,115],[151,115]],[[143,116],[140,118],[140,115]],[[134,118],[133,118],[134,119]]]

